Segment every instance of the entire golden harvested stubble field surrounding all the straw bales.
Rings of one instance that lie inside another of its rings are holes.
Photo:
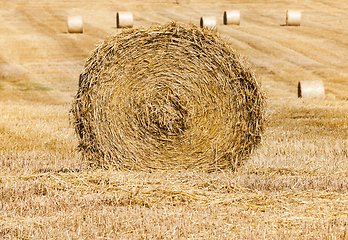
[[[0,1],[1,239],[347,239],[348,4],[308,1]],[[240,26],[222,25],[239,9]],[[287,27],[287,9],[302,10]],[[84,61],[134,26],[218,19],[267,95],[262,145],[237,172],[87,170],[68,112]],[[84,34],[68,34],[81,15]],[[324,99],[297,83],[323,80]]]

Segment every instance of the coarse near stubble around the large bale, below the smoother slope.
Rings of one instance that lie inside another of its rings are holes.
[[[348,104],[293,101],[244,168],[215,173],[85,170],[67,105],[2,102],[0,236],[344,239]]]

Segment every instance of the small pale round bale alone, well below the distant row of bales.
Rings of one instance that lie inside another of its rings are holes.
[[[325,96],[322,80],[307,80],[298,82],[299,98],[322,98]]]

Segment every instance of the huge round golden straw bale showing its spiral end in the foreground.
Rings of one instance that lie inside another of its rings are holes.
[[[71,110],[91,167],[236,168],[260,142],[264,97],[217,33],[169,23],[107,38]]]

